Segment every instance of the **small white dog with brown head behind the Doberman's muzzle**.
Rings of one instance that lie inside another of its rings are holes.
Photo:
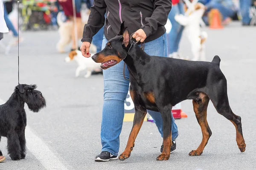
[[[86,70],[84,77],[89,78],[93,70],[102,69],[100,67],[101,63],[94,62],[91,57],[84,57],[79,50],[70,51],[69,56],[65,58],[65,62],[71,62],[73,60],[78,64],[78,67],[76,68],[76,77],[79,77],[80,71]]]

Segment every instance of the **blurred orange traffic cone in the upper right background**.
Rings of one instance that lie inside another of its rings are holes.
[[[218,9],[212,9],[208,14],[209,28],[222,29],[221,25],[222,16]]]

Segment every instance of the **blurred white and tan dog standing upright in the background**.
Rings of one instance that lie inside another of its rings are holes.
[[[186,1],[185,1],[186,2]],[[195,3],[195,2],[194,2]],[[193,3],[192,3],[193,4]],[[190,6],[186,14],[175,15],[175,20],[184,26],[184,32],[191,43],[191,51],[194,61],[205,61],[205,44],[208,35],[205,31],[201,31],[202,16],[205,11],[205,6],[202,3],[196,3]]]

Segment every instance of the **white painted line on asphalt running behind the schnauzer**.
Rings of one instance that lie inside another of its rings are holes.
[[[5,102],[0,98],[0,105],[3,103]],[[67,170],[58,157],[47,147],[47,144],[36,136],[28,125],[26,126],[25,136],[27,149],[47,170]]]

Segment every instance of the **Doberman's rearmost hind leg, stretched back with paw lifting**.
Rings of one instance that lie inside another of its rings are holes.
[[[216,88],[209,88],[209,98],[211,99],[217,112],[230,120],[236,127],[236,142],[241,152],[245,151],[246,144],[244,142],[241,117],[233,113],[230,108],[227,97],[227,80],[223,78],[216,85]]]

